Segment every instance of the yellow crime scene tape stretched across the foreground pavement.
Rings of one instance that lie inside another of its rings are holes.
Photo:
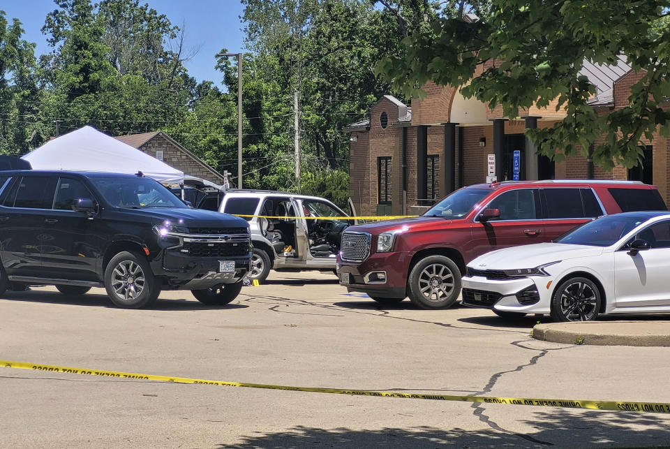
[[[670,413],[670,403],[665,402],[622,402],[622,401],[584,401],[581,399],[537,399],[526,397],[491,397],[491,396],[459,396],[459,395],[425,395],[423,393],[400,393],[387,391],[344,390],[341,388],[292,387],[289,385],[269,385],[265,383],[209,381],[204,379],[172,376],[156,376],[154,374],[126,373],[123,371],[105,371],[103,369],[86,369],[60,367],[56,365],[38,365],[35,363],[12,362],[0,360],[0,365],[7,368],[32,369],[66,374],[83,374],[86,376],[105,376],[145,381],[161,381],[173,383],[195,383],[200,385],[221,385],[223,387],[264,388],[266,390],[289,390],[312,393],[331,393],[334,395],[397,397],[402,399],[429,399],[433,401],[475,402],[478,404],[508,404],[560,408],[586,408],[590,410],[634,411],[645,413]]]

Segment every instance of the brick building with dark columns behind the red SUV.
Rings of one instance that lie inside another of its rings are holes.
[[[479,73],[485,67],[479,69]],[[630,87],[642,73],[623,59],[616,66],[585,61],[581,71],[596,87],[590,104],[602,112],[623,108]],[[631,179],[656,184],[670,204],[670,139],[655,135],[647,142],[639,167],[611,172],[581,154],[554,163],[536,154],[526,128],[546,128],[565,117],[556,104],[505,117],[453,87],[429,82],[426,98],[412,98],[411,108],[385,95],[368,119],[344,128],[350,141],[350,196],[362,215],[416,214],[461,186],[486,182],[489,155],[498,180],[513,179],[514,151],[519,151],[519,179]]]

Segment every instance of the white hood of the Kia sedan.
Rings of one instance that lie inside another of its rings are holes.
[[[468,267],[477,270],[534,268],[557,260],[597,256],[602,251],[603,249],[600,246],[537,243],[491,251],[472,260],[468,263]]]

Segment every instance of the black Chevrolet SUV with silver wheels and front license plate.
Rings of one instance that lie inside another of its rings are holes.
[[[249,270],[244,219],[191,209],[154,179],[103,172],[0,172],[0,295],[51,284],[82,295],[104,286],[118,307],[161,290],[204,304],[234,300]]]

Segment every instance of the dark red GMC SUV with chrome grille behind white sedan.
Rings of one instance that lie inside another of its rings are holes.
[[[549,242],[605,214],[667,210],[655,186],[633,181],[556,180],[477,184],[422,216],[347,228],[337,257],[340,284],[392,304],[450,307],[475,257]]]

